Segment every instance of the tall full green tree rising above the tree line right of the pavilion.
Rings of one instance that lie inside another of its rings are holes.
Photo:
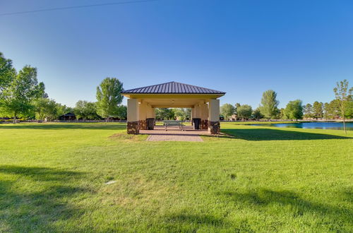
[[[277,106],[280,102],[276,99],[277,93],[273,90],[263,92],[261,99],[260,111],[267,119],[275,119],[279,112]]]

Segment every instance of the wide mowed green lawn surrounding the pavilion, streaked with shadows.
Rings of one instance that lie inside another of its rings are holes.
[[[352,232],[353,132],[0,125],[0,232]],[[116,181],[114,184],[105,184]]]

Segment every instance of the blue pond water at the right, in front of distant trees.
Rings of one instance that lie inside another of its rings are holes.
[[[252,126],[273,126],[282,128],[302,128],[302,129],[340,129],[343,130],[341,122],[298,122],[281,124],[252,124]],[[346,129],[353,131],[353,122],[346,123]]]

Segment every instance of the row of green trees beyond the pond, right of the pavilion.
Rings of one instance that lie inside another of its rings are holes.
[[[347,80],[337,83],[333,89],[335,100],[331,102],[313,102],[303,105],[301,100],[289,101],[285,108],[279,109],[277,93],[273,90],[263,92],[261,104],[251,109],[248,104],[223,104],[220,114],[226,120],[232,119],[353,119],[353,88],[349,88]]]

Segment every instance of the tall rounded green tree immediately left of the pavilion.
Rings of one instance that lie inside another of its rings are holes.
[[[97,114],[109,121],[118,111],[118,106],[123,100],[120,94],[123,91],[123,83],[117,78],[104,78],[97,87]]]

